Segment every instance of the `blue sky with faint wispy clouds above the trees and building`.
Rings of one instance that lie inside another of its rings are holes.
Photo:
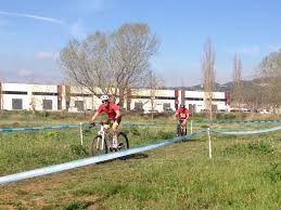
[[[207,38],[216,80],[231,80],[234,53],[250,79],[261,58],[281,48],[279,0],[9,0],[0,6],[0,78],[5,82],[63,83],[59,52],[69,38],[145,22],[159,37],[151,60],[166,86],[201,83]]]

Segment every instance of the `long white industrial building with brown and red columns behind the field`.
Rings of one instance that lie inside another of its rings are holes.
[[[97,89],[98,90],[98,89]],[[99,92],[99,91],[98,91]],[[0,108],[7,110],[93,110],[101,104],[102,92],[93,95],[87,89],[68,86],[0,83]],[[124,108],[175,110],[184,103],[193,111],[205,109],[205,96],[202,91],[183,89],[132,89],[125,94]],[[214,109],[229,107],[229,93],[214,92]]]

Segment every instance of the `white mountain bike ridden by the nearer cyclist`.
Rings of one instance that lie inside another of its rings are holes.
[[[118,132],[117,141],[113,140],[113,134],[111,131],[104,129],[104,122],[92,122],[90,126],[100,126],[98,135],[93,137],[91,144],[91,155],[102,155],[108,152],[118,152],[129,148],[129,141],[124,132]]]

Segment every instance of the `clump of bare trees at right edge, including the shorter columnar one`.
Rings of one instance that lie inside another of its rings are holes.
[[[241,60],[235,56],[232,97],[239,107],[241,104],[252,108],[281,105],[281,51],[264,57],[251,82],[242,82],[241,71]]]

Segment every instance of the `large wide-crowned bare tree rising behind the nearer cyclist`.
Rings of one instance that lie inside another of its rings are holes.
[[[124,24],[116,31],[97,31],[79,42],[71,40],[61,52],[61,64],[69,80],[87,87],[93,94],[119,96],[143,87],[150,58],[157,52],[158,39],[146,24]]]

